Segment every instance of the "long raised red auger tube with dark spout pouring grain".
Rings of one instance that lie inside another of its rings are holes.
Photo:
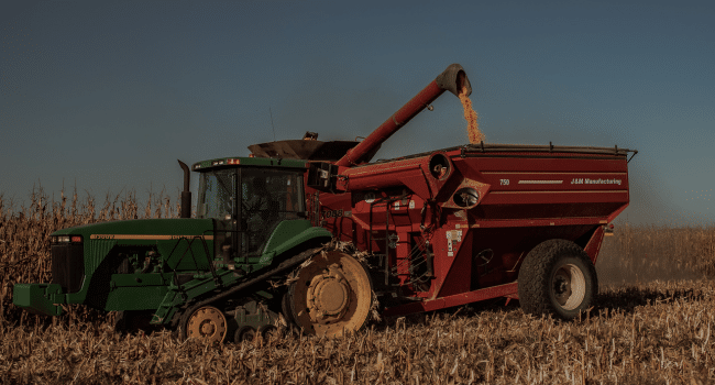
[[[427,108],[435,99],[439,98],[444,91],[450,91],[454,96],[460,95],[463,87],[466,87],[466,96],[472,94],[472,85],[459,64],[452,64],[442,74],[440,74],[425,89],[417,94],[403,108],[397,110],[389,119],[381,124],[370,136],[365,138],[360,144],[341,157],[336,165],[338,166],[356,166],[365,161],[365,155],[375,151],[383,142],[385,142],[392,134],[397,132],[403,125],[415,118],[425,108]]]

